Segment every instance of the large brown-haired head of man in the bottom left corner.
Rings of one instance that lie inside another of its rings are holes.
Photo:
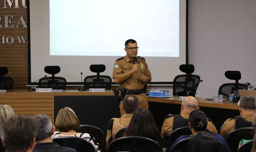
[[[32,152],[36,145],[37,127],[25,115],[9,118],[2,129],[2,144],[7,152]]]

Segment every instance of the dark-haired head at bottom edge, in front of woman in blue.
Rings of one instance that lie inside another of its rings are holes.
[[[207,131],[201,131],[190,140],[188,150],[190,152],[218,152],[218,140]]]

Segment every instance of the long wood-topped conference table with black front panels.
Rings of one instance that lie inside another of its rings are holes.
[[[157,127],[161,130],[162,122],[169,114],[179,114],[181,100],[179,97],[151,98],[148,97],[151,111]],[[237,103],[223,101],[208,101],[198,99],[199,109],[212,119],[219,129],[227,118],[239,115]],[[52,122],[59,109],[70,107],[80,120],[80,124],[90,124],[106,133],[106,124],[113,117],[120,117],[118,98],[112,90],[106,92],[89,92],[78,90],[63,90],[63,92],[35,92],[27,90],[7,90],[0,93],[0,103],[13,107],[16,115],[34,116],[47,114]]]

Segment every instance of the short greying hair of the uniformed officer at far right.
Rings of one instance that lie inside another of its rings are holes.
[[[239,106],[242,109],[251,109],[251,110],[255,110],[256,108],[256,101],[254,97],[251,96],[245,96],[242,97],[239,101]]]

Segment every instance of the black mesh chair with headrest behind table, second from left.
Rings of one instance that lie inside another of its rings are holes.
[[[46,66],[44,71],[51,74],[51,77],[43,77],[39,80],[39,88],[66,89],[66,79],[64,77],[55,77],[60,72],[59,66]]]

